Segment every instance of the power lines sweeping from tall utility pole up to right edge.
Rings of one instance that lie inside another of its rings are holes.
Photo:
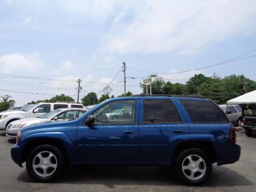
[[[197,71],[197,70],[201,70],[201,69],[211,68],[211,67],[215,67],[215,66],[224,65],[224,64],[230,63],[230,62],[235,62],[235,61],[239,61],[239,60],[244,60],[244,59],[247,59],[247,58],[255,57],[256,54],[255,54],[255,55],[251,55],[251,56],[247,56],[247,57],[243,57],[243,58],[238,59],[239,57],[242,57],[242,56],[244,56],[244,55],[248,55],[249,53],[252,53],[252,52],[255,52],[255,51],[256,51],[256,49],[255,49],[255,50],[252,50],[252,51],[250,51],[250,52],[248,52],[248,53],[239,55],[239,56],[237,56],[237,57],[228,59],[228,60],[226,60],[226,61],[216,63],[216,64],[214,64],[214,65],[205,66],[205,67],[196,68],[196,69],[191,69],[191,70],[185,70],[185,71],[179,71],[179,72],[172,72],[172,73],[160,73],[160,72],[144,71],[144,70],[136,69],[136,68],[131,67],[131,66],[130,66],[130,68],[132,68],[132,69],[134,69],[134,70],[137,70],[137,71],[145,72],[145,73],[161,74],[161,75],[170,75],[170,74],[177,74],[177,73],[185,73],[185,72]]]

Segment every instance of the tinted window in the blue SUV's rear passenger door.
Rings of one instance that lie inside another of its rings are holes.
[[[144,122],[181,123],[181,118],[171,100],[144,99]]]

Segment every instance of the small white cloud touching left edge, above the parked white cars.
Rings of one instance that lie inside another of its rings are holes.
[[[20,74],[26,72],[34,72],[39,70],[43,62],[38,54],[24,55],[21,53],[13,53],[0,56],[0,69],[2,73]]]

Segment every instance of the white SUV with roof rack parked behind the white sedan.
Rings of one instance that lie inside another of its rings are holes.
[[[26,105],[20,110],[16,111],[5,111],[0,113],[0,130],[6,130],[6,127],[12,121],[25,119],[29,117],[37,117],[49,113],[53,110],[60,108],[81,108],[82,104],[77,103],[36,103]]]

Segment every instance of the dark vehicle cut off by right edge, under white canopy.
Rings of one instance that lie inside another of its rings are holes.
[[[243,128],[247,136],[251,136],[253,131],[256,131],[256,106],[250,104],[250,108],[244,110]]]

